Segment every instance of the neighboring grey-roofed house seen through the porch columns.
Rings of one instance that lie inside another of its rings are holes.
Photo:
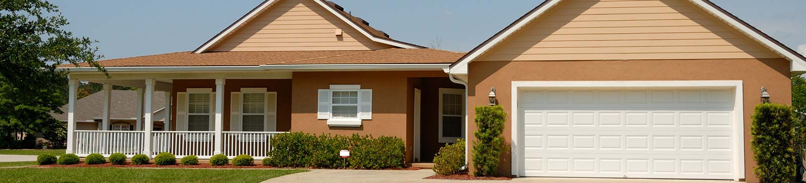
[[[137,114],[139,112],[137,107],[142,107],[142,104],[137,103],[138,91],[111,90],[110,94],[111,97],[108,98],[110,100],[110,121],[106,123],[106,128],[103,128],[103,100],[106,100],[107,98],[104,97],[103,91],[98,91],[89,96],[76,100],[77,112],[75,112],[75,120],[77,130],[142,130],[143,125],[141,121],[143,116],[140,115],[139,117],[141,119],[137,119]],[[154,94],[160,96],[167,93],[164,91],[155,91]],[[154,101],[152,102],[152,109],[154,110],[154,131],[162,131],[164,128],[164,108],[164,97],[154,98]],[[63,112],[67,112],[68,106],[64,105],[60,109]],[[139,110],[143,109],[140,108]],[[143,112],[139,113],[142,114]],[[56,118],[56,120],[67,123],[67,113],[51,113],[51,116]]]

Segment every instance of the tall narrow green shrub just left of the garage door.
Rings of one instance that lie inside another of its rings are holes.
[[[476,107],[476,143],[473,144],[473,167],[476,176],[495,176],[504,149],[506,112],[501,105]]]

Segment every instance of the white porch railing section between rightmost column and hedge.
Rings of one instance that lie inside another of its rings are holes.
[[[223,132],[226,157],[248,154],[255,159],[268,157],[272,150],[272,137],[285,132]]]

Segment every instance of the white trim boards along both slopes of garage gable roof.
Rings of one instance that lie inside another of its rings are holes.
[[[709,2],[708,0],[688,1],[692,2],[694,5],[708,12],[709,14],[715,15],[721,21],[727,23],[729,26],[732,26],[742,34],[748,35],[751,39],[754,39],[754,41],[760,43],[764,47],[769,48],[776,54],[790,60],[791,75],[800,75],[806,73],[806,57],[804,57],[804,55],[798,54],[791,48],[784,46],[775,39],[772,39],[769,35],[764,34],[762,31],[758,31],[758,29],[756,29],[754,26],[750,26],[750,24],[747,22],[742,21],[733,14],[729,14],[721,7],[713,4],[713,2]],[[467,75],[467,64],[471,63],[474,59],[479,58],[481,55],[484,55],[484,53],[487,51],[491,51],[492,48],[498,43],[503,43],[505,39],[509,38],[510,35],[514,35],[515,32],[521,30],[521,28],[530,24],[530,22],[533,22],[542,15],[546,14],[547,11],[559,4],[559,2],[563,2],[563,0],[546,0],[533,10],[530,10],[521,18],[518,18],[515,22],[509,24],[509,26],[496,33],[496,35],[493,35],[484,41],[484,43],[481,43],[472,51],[468,52],[467,55],[464,55],[457,62],[451,64],[451,74]]]

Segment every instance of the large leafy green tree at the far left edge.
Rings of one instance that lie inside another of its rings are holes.
[[[66,103],[68,71],[56,66],[89,63],[106,73],[95,61],[102,57],[95,41],[73,36],[67,24],[50,2],[0,1],[0,144],[33,132],[65,134],[64,123],[48,114]]]

